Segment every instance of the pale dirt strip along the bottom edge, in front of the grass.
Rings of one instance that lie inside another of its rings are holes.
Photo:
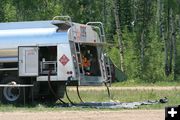
[[[164,110],[0,112],[0,120],[164,120]]]

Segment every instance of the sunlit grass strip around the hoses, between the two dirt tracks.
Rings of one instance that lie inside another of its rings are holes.
[[[87,90],[80,91],[81,96],[85,102],[90,101],[110,101],[105,90]],[[69,96],[74,102],[79,102],[76,92],[69,90]],[[136,102],[145,100],[158,100],[163,97],[168,98],[168,103],[154,104],[154,105],[143,105],[138,109],[164,109],[166,106],[176,106],[180,104],[180,90],[112,90],[111,97],[113,101],[119,102]],[[67,101],[66,98],[64,98]],[[59,103],[57,103],[58,105]],[[50,103],[34,103],[34,105],[2,105],[0,104],[1,112],[13,112],[13,111],[69,111],[69,110],[112,110],[112,109],[93,109],[93,108],[79,108],[79,107],[58,107],[57,105]],[[121,109],[114,109],[121,110]]]

